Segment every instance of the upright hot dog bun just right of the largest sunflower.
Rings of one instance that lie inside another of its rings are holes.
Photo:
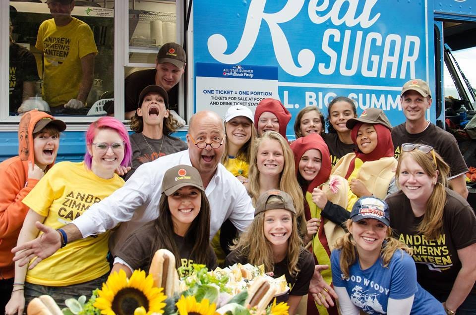
[[[175,256],[166,249],[154,254],[150,263],[149,274],[154,278],[154,286],[164,288],[167,296],[173,296],[179,289],[179,274],[175,268]]]

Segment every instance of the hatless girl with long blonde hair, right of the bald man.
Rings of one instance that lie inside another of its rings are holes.
[[[265,191],[279,189],[293,198],[298,219],[303,217],[302,192],[296,179],[293,151],[282,135],[267,131],[256,140],[248,180],[248,194],[253,204]]]

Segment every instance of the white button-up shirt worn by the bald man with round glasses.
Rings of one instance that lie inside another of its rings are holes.
[[[111,246],[114,248],[135,229],[159,216],[162,179],[169,168],[179,164],[192,164],[188,150],[140,165],[122,188],[92,205],[72,223],[83,237],[87,237],[103,233],[123,222],[112,236]],[[205,194],[211,208],[210,239],[227,218],[240,231],[244,231],[253,220],[254,208],[246,189],[221,163]]]

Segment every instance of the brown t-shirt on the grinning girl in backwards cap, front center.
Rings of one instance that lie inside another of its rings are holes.
[[[232,251],[228,254],[225,259],[225,265],[231,266],[235,263],[246,264],[249,262],[248,258],[241,255],[238,250]],[[314,274],[314,258],[312,254],[304,249],[302,249],[299,254],[299,259],[297,261],[297,268],[299,272],[296,276],[292,276],[288,270],[288,259],[284,259],[281,262],[274,264],[273,278],[279,278],[283,274],[286,277],[288,286],[291,289],[291,292],[288,292],[282,296],[277,297],[276,303],[288,301],[289,295],[306,295],[309,291],[309,283],[311,281],[312,275]]]

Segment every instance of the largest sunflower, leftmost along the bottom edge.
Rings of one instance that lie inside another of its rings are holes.
[[[101,310],[101,314],[106,315],[130,315],[141,307],[145,309],[144,314],[147,315],[163,314],[165,307],[163,302],[167,297],[162,290],[154,287],[152,275],[146,277],[143,270],[135,270],[128,280],[124,270],[119,270],[112,273],[108,281],[103,283],[94,306]]]

